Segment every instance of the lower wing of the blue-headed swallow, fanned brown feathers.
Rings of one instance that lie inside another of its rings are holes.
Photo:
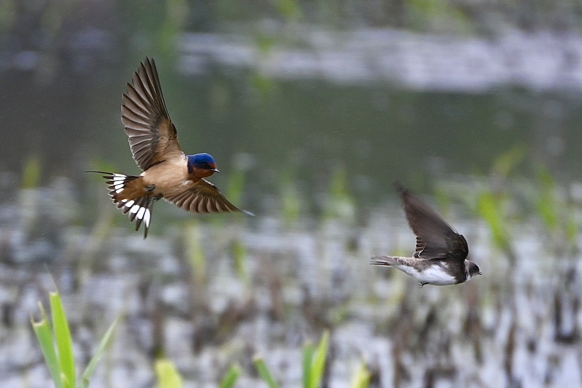
[[[214,184],[204,179],[201,179],[187,190],[182,191],[182,193],[170,195],[164,197],[164,199],[189,212],[243,212],[248,215],[254,215],[231,204]]]

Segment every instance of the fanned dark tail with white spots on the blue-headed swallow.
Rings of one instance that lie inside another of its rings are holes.
[[[136,179],[140,176],[125,175],[103,171],[87,171],[104,174],[109,186],[109,196],[118,209],[122,209],[123,214],[129,213],[129,222],[136,220],[136,230],[140,229],[141,224],[144,224],[144,239],[147,237],[148,229],[150,229],[151,212],[154,207],[154,202],[158,199],[153,195],[142,195],[141,197],[133,198],[132,195],[124,195],[132,193],[140,193],[135,190],[132,182],[137,183]],[[143,191],[141,191],[143,193]]]

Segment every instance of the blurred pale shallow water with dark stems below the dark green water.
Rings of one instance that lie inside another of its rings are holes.
[[[23,204],[55,193],[20,194]],[[48,272],[63,294],[81,364],[123,314],[95,387],[152,386],[160,351],[186,387],[217,384],[234,362],[243,368],[237,386],[262,386],[251,364],[257,354],[282,386],[298,386],[300,347],[324,328],[331,329],[329,387],[349,386],[361,362],[377,387],[582,385],[580,236],[563,250],[558,234],[535,218],[506,223],[512,264],[484,222],[450,214],[484,275],[421,288],[402,272],[368,264],[374,254],[413,251],[399,204],[377,209],[364,226],[346,218],[311,227],[267,216],[253,226],[190,219],[147,240],[127,223],[112,227],[108,212],[90,234],[56,211],[62,206],[0,207],[2,387],[49,384],[29,327],[29,314],[53,288]],[[52,235],[33,237],[40,220]],[[47,266],[35,256],[38,245],[53,249]]]

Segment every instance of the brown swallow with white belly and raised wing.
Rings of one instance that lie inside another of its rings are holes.
[[[437,212],[396,183],[404,202],[408,223],[416,234],[413,257],[374,256],[371,264],[400,269],[424,284],[446,286],[466,282],[481,275],[479,267],[467,260],[469,245]]]

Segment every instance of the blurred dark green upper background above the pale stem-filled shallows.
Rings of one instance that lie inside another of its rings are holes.
[[[517,172],[580,179],[582,50],[577,2],[0,2],[0,170],[40,161],[40,183],[86,169],[136,173],[121,94],[157,60],[187,154],[246,172],[244,206],[302,211],[346,176],[359,207],[393,180],[426,190],[489,173],[518,147]],[[94,198],[93,198],[94,200]]]

